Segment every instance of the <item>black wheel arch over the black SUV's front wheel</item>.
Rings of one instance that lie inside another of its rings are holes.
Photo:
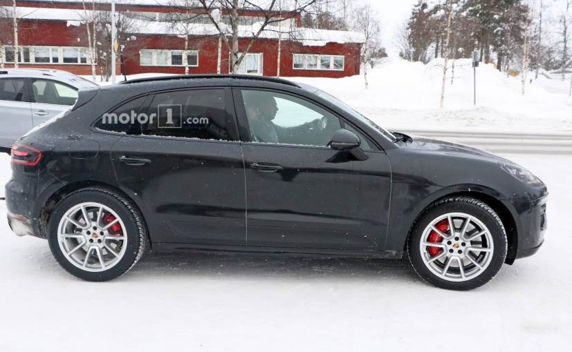
[[[445,195],[441,195],[440,197],[436,197],[436,199],[433,199],[431,202],[429,202],[429,204],[426,204],[423,207],[423,209],[418,212],[418,215],[416,216],[414,222],[412,223],[411,228],[409,228],[409,233],[407,233],[407,239],[409,238],[409,235],[410,235],[414,225],[416,224],[417,219],[419,219],[419,217],[421,217],[421,215],[423,215],[423,213],[425,212],[425,210],[428,207],[430,207],[435,202],[439,202],[442,199],[451,198],[451,197],[471,197],[474,199],[478,199],[481,202],[490,206],[490,208],[492,208],[492,210],[495,211],[495,213],[497,213],[497,215],[499,215],[501,222],[504,225],[504,228],[506,231],[506,237],[507,237],[507,241],[508,241],[508,248],[507,248],[505,263],[506,264],[513,264],[513,262],[515,262],[515,259],[517,256],[517,247],[518,247],[518,231],[517,231],[517,224],[515,222],[515,217],[510,212],[510,210],[506,207],[506,205],[503,202],[501,202],[497,197],[491,195],[490,193],[486,193],[483,191],[455,190],[455,191],[452,191],[452,192],[447,193]],[[407,247],[407,239],[405,240],[405,244],[403,247],[404,252],[405,252],[405,248]]]

